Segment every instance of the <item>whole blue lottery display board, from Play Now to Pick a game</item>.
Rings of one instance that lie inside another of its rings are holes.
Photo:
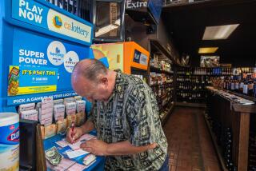
[[[94,58],[93,25],[43,0],[2,0],[0,9],[0,112],[76,95],[70,75]]]

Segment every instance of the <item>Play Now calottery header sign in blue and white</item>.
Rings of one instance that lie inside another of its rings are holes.
[[[92,25],[82,23],[33,0],[13,0],[12,18],[91,43]]]

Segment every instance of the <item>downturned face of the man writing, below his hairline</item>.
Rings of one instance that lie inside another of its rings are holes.
[[[72,80],[74,91],[88,101],[107,101],[107,85],[106,82],[92,82],[82,77]]]

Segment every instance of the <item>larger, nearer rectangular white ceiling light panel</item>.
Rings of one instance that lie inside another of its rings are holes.
[[[239,26],[239,24],[224,26],[206,26],[202,40],[226,39]]]

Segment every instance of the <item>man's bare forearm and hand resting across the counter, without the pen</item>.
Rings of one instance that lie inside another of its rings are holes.
[[[150,145],[134,146],[130,144],[130,141],[121,141],[107,144],[104,141],[94,139],[83,143],[81,148],[90,153],[94,153],[95,155],[121,156],[142,153],[146,150],[154,149],[156,146],[156,143]]]

